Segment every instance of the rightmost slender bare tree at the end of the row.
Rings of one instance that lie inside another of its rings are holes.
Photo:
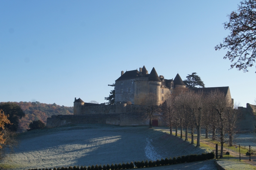
[[[234,106],[227,108],[229,146],[233,146],[237,118],[241,115],[241,110],[238,107],[240,107],[240,103],[235,103]]]

